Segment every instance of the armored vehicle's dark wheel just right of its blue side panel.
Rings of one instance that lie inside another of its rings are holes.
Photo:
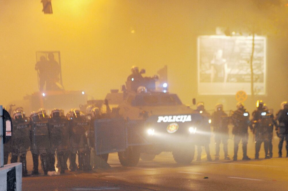
[[[137,147],[128,147],[125,151],[118,152],[122,166],[136,166],[140,159],[140,150]]]

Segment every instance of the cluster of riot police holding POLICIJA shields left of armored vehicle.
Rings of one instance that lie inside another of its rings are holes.
[[[60,174],[68,170],[68,158],[70,171],[90,171],[91,147],[92,153],[96,155],[91,118],[101,118],[98,108],[91,108],[91,116],[76,109],[69,111],[66,116],[63,110],[54,109],[48,116],[44,109],[40,109],[38,112],[32,112],[29,118],[25,116],[22,108],[17,108],[12,114],[13,136],[4,144],[4,163],[7,164],[9,153],[11,163],[17,162],[19,157],[22,176],[28,176],[26,153],[30,148],[33,158],[32,175],[39,174],[39,156],[44,174],[49,174],[49,171],[57,174],[54,166],[55,153],[56,167]]]

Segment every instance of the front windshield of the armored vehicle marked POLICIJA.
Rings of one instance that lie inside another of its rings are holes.
[[[176,94],[139,94],[134,99],[128,99],[132,106],[170,106],[181,105]]]

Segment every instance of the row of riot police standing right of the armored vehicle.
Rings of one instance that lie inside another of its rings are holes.
[[[201,160],[203,146],[207,154],[207,160],[212,160],[209,150],[211,137],[210,125],[213,127],[213,132],[215,134],[215,160],[219,160],[221,142],[223,144],[224,159],[230,160],[227,147],[229,138],[228,124],[233,125],[232,134],[234,135],[234,161],[237,160],[238,145],[240,141],[242,141],[242,159],[250,160],[250,158],[247,156],[248,128],[253,132],[253,141],[255,141],[255,159],[259,159],[259,151],[262,142],[264,142],[265,159],[272,158],[272,138],[274,126],[276,134],[279,137],[278,157],[282,157],[284,140],[286,140],[286,157],[288,157],[288,103],[281,103],[281,110],[277,112],[275,117],[273,116],[273,112],[266,107],[262,100],[258,100],[256,106],[257,108],[253,111],[250,119],[249,112],[247,112],[242,103],[238,103],[236,105],[237,110],[231,111],[229,116],[223,111],[222,104],[217,104],[215,106],[215,111],[210,116],[210,114],[204,108],[204,103],[198,103],[196,111],[206,118],[207,121],[209,119],[209,123],[207,122],[206,125],[202,126],[202,132],[206,133],[203,135],[202,139],[200,139],[202,141],[199,141],[197,145],[197,161]]]

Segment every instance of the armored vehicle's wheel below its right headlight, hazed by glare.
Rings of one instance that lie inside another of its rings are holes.
[[[178,148],[172,152],[173,158],[178,164],[188,165],[194,159],[195,145],[188,147],[189,149],[186,148]]]

